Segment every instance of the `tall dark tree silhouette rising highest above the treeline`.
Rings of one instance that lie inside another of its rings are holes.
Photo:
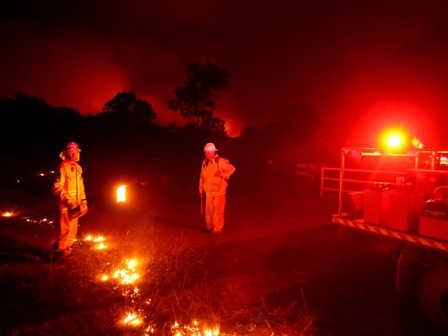
[[[194,120],[197,128],[207,129],[216,124],[212,121],[218,99],[216,91],[228,87],[231,87],[230,72],[210,61],[196,61],[187,65],[187,80],[173,90],[176,99],[168,101],[168,107]]]

